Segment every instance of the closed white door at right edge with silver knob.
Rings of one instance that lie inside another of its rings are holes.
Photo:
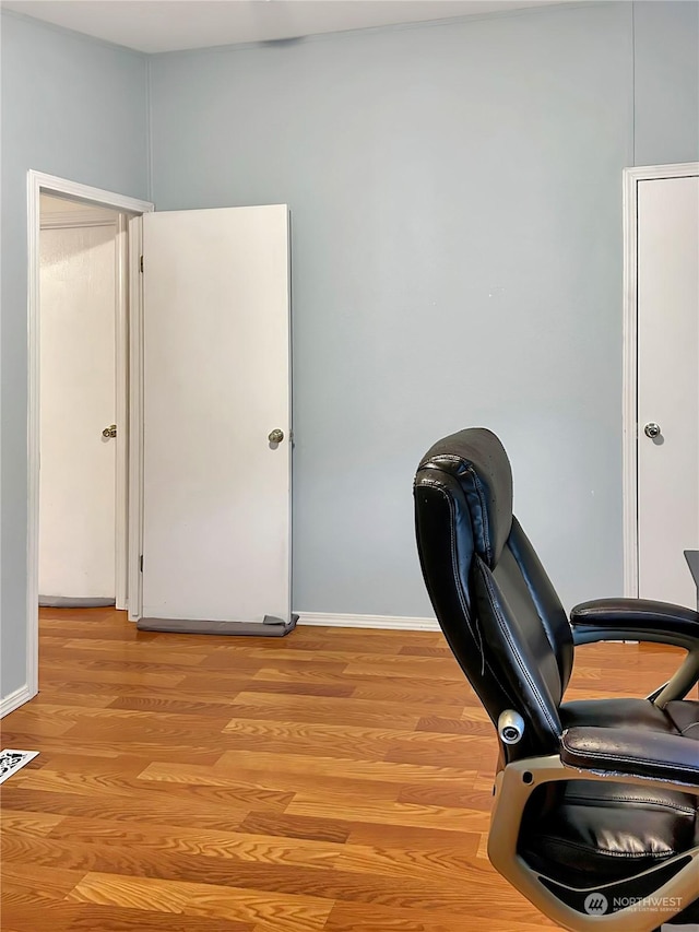
[[[639,595],[696,607],[683,556],[699,550],[696,176],[638,185],[638,515]]]

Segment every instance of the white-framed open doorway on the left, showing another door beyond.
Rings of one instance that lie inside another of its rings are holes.
[[[39,602],[140,613],[138,276],[153,204],[37,172],[27,181],[31,698]]]

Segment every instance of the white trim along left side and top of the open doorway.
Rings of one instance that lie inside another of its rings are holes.
[[[154,210],[140,201],[70,181],[43,172],[27,172],[27,592],[26,688],[27,698],[38,692],[38,555],[39,555],[39,231],[42,192],[62,194],[123,214]],[[126,295],[125,295],[126,296]],[[126,493],[126,489],[122,489]],[[126,506],[125,506],[126,507]],[[119,510],[122,510],[118,508]]]

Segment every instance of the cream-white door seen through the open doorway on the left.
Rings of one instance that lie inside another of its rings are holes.
[[[115,598],[115,226],[40,234],[39,593]]]

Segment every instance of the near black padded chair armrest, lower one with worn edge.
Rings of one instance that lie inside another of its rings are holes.
[[[632,728],[569,728],[560,739],[567,767],[628,774],[699,787],[699,742]]]

